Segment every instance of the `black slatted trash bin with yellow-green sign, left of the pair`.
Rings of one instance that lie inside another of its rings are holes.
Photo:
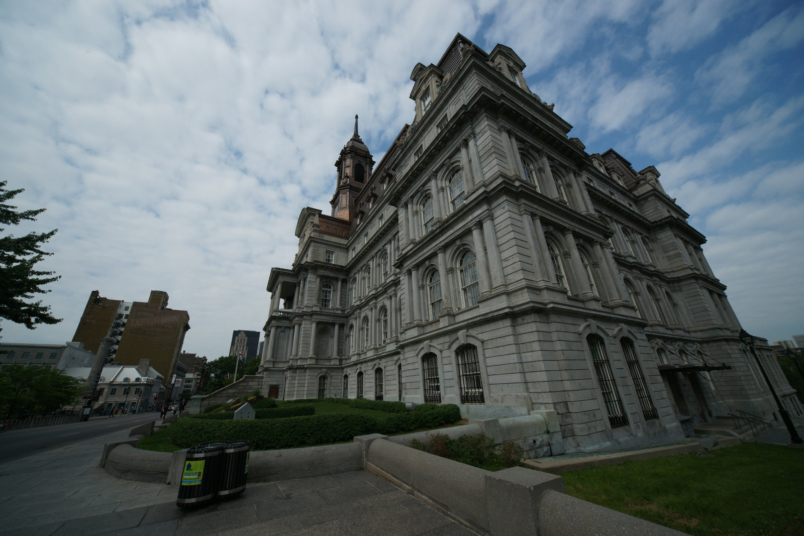
[[[198,506],[215,499],[220,485],[223,452],[227,446],[225,443],[209,443],[187,449],[176,498],[179,508]]]

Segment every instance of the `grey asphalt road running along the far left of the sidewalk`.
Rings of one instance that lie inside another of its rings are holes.
[[[63,448],[78,441],[92,437],[105,436],[134,428],[151,420],[157,420],[159,412],[117,415],[117,417],[96,417],[86,422],[23,428],[0,433],[0,464],[6,464],[30,454]],[[102,446],[102,441],[99,445]]]

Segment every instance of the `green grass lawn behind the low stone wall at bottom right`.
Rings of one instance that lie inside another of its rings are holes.
[[[804,451],[741,443],[562,473],[567,493],[689,534],[804,534]]]

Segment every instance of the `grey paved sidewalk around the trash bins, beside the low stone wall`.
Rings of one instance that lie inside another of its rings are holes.
[[[98,467],[103,444],[127,436],[0,464],[0,536],[474,534],[365,471],[250,483],[240,497],[178,509],[178,486],[118,479]]]

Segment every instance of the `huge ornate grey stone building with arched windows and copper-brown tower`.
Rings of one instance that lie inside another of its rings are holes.
[[[553,454],[678,440],[685,417],[775,419],[658,170],[587,153],[523,68],[457,35],[413,69],[414,119],[376,166],[355,117],[330,215],[303,209],[292,268],[269,276],[263,392],[541,413]]]

